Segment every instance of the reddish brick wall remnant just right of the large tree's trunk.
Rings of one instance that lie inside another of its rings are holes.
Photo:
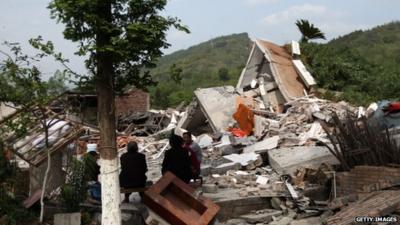
[[[140,89],[131,89],[115,99],[116,115],[146,112],[150,109],[150,95]]]

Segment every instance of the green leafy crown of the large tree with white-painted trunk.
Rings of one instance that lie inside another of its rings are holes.
[[[135,85],[153,85],[149,68],[162,56],[162,48],[169,47],[166,31],[170,27],[189,32],[173,17],[160,15],[166,0],[53,0],[49,4],[52,18],[65,25],[64,37],[79,43],[76,54],[88,56],[86,67],[97,76],[99,53],[112,61],[115,91]],[[111,18],[100,13],[111,7]],[[109,38],[99,45],[99,36]],[[90,79],[81,79],[82,82]]]

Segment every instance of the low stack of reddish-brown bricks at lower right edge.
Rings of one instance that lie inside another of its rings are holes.
[[[336,175],[337,196],[370,193],[400,183],[400,168],[356,166]]]

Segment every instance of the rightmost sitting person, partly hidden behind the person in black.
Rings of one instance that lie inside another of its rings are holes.
[[[185,141],[184,148],[188,151],[190,160],[192,162],[192,175],[197,178],[200,175],[200,165],[203,160],[203,153],[200,146],[192,140],[192,133],[183,133],[183,140]]]

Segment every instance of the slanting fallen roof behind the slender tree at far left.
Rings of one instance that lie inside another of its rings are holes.
[[[47,151],[53,154],[65,148],[69,143],[81,136],[85,129],[79,124],[67,121],[57,113],[47,110],[45,112],[48,126],[49,149],[45,148],[45,134],[42,122],[33,114],[37,113],[34,107],[29,110],[20,110],[1,121],[2,130],[0,138],[4,146],[11,150],[22,160],[30,165],[37,166],[47,158]],[[18,125],[19,122],[28,119],[28,123]],[[12,126],[18,125],[26,129],[22,133],[12,131]]]

